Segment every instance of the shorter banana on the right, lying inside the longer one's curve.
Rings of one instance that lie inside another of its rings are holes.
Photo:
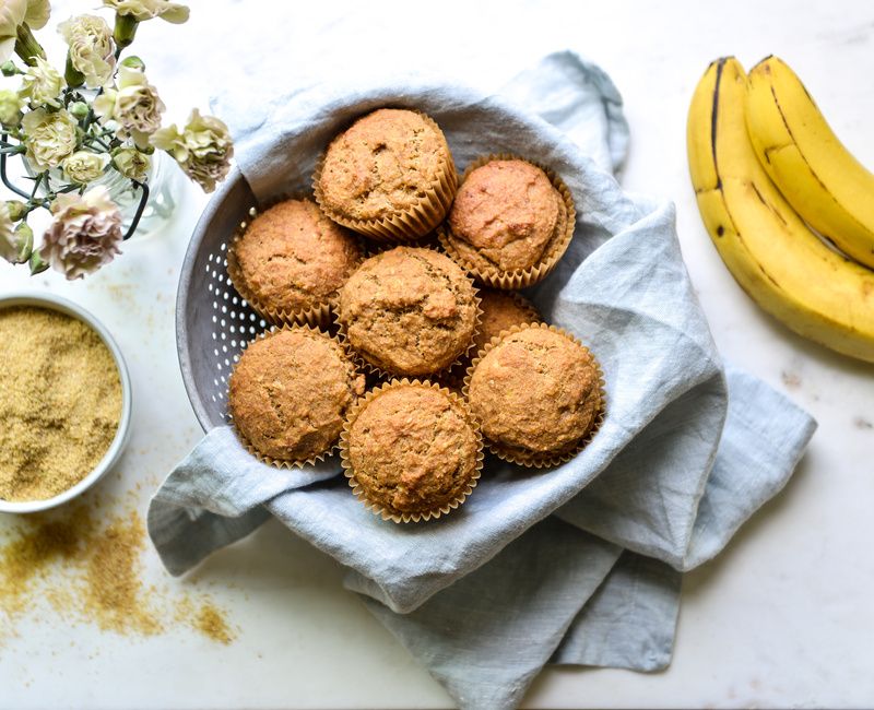
[[[746,125],[765,170],[807,224],[874,267],[874,175],[838,140],[783,61],[763,59],[748,83]]]

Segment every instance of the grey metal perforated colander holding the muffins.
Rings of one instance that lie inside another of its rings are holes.
[[[188,245],[176,298],[182,381],[204,431],[227,422],[227,378],[245,344],[267,330],[227,275],[227,245],[256,204],[234,168],[206,205]]]

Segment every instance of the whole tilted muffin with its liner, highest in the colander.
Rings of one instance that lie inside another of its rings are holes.
[[[316,200],[373,237],[424,236],[446,216],[458,178],[442,131],[418,111],[380,108],[338,135],[316,169]]]

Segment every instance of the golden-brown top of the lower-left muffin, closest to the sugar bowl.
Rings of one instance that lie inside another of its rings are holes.
[[[249,344],[231,376],[228,409],[263,455],[305,461],[328,451],[364,376],[334,339],[307,328],[279,330]]]

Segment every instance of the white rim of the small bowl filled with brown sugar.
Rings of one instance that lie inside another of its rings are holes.
[[[72,500],[80,494],[91,488],[91,486],[97,483],[97,481],[99,481],[101,477],[103,477],[103,475],[115,465],[121,455],[121,452],[125,450],[125,447],[128,445],[128,440],[130,439],[131,386],[128,366],[125,364],[125,358],[121,355],[121,351],[118,348],[116,341],[109,334],[109,331],[104,328],[103,323],[101,323],[101,321],[98,321],[84,308],[76,306],[74,303],[67,300],[66,298],[61,298],[60,296],[52,296],[45,293],[39,295],[13,293],[0,296],[0,310],[11,308],[13,306],[35,306],[37,308],[49,308],[51,310],[66,313],[67,316],[78,318],[82,322],[90,326],[94,332],[101,336],[101,340],[106,344],[106,346],[109,348],[109,352],[113,354],[113,358],[116,362],[116,367],[118,368],[118,376],[121,379],[121,419],[118,423],[118,430],[116,431],[115,439],[113,439],[113,443],[104,454],[103,459],[101,459],[94,470],[84,478],[82,478],[82,481],[75,484],[72,488],[68,488],[63,493],[58,494],[54,498],[47,498],[46,500],[28,500],[24,502],[11,502],[9,500],[0,499],[0,512],[25,513],[48,510],[49,508],[55,508],[69,500]]]

